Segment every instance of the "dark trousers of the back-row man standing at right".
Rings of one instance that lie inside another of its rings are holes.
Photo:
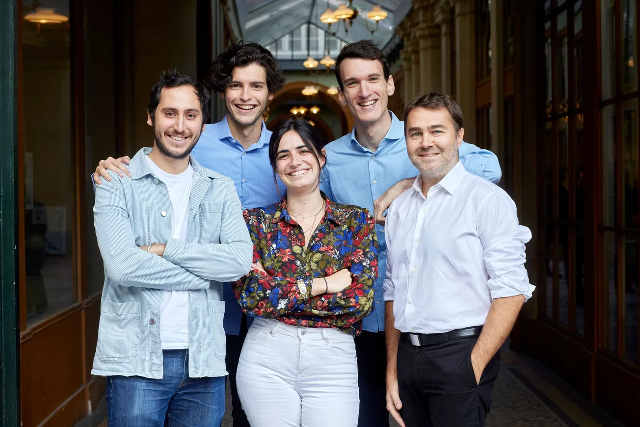
[[[355,344],[360,389],[358,427],[389,427],[385,333],[364,331],[355,338]]]

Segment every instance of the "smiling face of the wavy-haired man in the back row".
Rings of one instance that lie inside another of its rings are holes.
[[[225,99],[227,112],[236,124],[251,126],[262,118],[267,103],[273,98],[267,88],[266,70],[262,65],[252,63],[234,68],[231,75],[231,83],[220,97]]]

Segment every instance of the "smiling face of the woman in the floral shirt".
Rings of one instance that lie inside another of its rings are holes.
[[[324,150],[318,157],[321,163],[296,131],[282,135],[276,152],[276,173],[288,191],[311,192],[316,189],[320,168],[324,165]]]

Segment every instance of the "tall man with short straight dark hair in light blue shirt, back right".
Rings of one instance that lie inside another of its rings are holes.
[[[346,45],[338,56],[335,76],[339,100],[355,119],[353,131],[324,147],[327,162],[321,189],[338,203],[366,207],[376,220],[392,200],[419,175],[406,154],[404,124],[387,110],[394,93],[393,77],[384,54],[370,40]],[[492,182],[500,181],[497,157],[463,142],[459,150],[465,168]],[[388,191],[387,191],[388,189]],[[356,337],[360,417],[358,426],[388,426],[385,372],[383,281],[387,262],[385,229],[378,234],[378,280],[373,312],[364,319],[364,332]]]

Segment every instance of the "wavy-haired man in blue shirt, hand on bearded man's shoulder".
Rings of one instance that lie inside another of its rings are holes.
[[[221,122],[208,124],[191,152],[197,161],[233,179],[243,209],[278,202],[278,192],[269,163],[268,131],[262,114],[273,94],[282,89],[284,76],[271,52],[257,43],[239,42],[227,48],[213,61],[209,88],[225,99],[227,115]],[[106,169],[121,177],[128,174],[129,157],[100,161],[93,180],[100,176],[111,181]],[[249,427],[236,389],[236,371],[244,336],[251,319],[240,310],[230,284],[225,284],[224,328],[227,334],[227,371],[232,392],[234,427]]]

